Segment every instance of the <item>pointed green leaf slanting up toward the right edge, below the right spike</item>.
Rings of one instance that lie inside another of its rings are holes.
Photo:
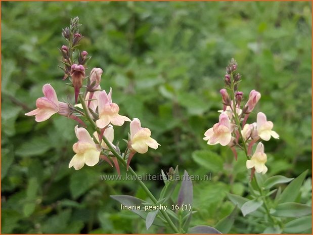
[[[307,174],[307,170],[304,171],[302,174],[300,174],[297,178],[291,181],[291,183],[288,184],[286,189],[283,191],[281,196],[279,197],[279,203],[284,202],[294,202],[299,195],[300,188],[302,185],[302,182]]]

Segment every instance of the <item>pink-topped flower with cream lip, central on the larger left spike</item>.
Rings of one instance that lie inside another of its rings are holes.
[[[98,110],[99,120],[97,120],[96,123],[99,128],[104,128],[109,123],[112,123],[115,126],[121,126],[125,121],[131,121],[128,117],[118,114],[119,107],[112,102],[112,88],[110,88],[109,94],[107,94],[105,90],[100,92],[98,98]]]

